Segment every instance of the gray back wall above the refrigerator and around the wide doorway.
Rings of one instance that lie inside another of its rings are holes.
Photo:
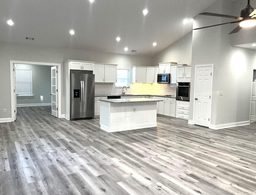
[[[152,63],[150,57],[0,42],[0,119],[11,117],[10,60],[60,63],[63,70],[63,61],[68,59],[118,64],[118,68],[128,69],[134,65],[150,66]],[[62,78],[63,80],[64,78]],[[62,89],[62,92],[64,93],[64,89]],[[62,101],[61,105],[64,108],[65,102]],[[3,113],[3,109],[6,109],[7,112]],[[64,114],[64,110],[62,110],[62,113]]]

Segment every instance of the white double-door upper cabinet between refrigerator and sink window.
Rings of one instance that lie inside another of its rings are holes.
[[[115,83],[117,65],[94,64],[96,83]]]

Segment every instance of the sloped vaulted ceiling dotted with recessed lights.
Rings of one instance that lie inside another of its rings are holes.
[[[2,0],[0,41],[154,56],[216,0]],[[142,10],[148,9],[144,16]],[[184,19],[187,24],[183,24]],[[6,20],[12,19],[14,26]],[[69,31],[74,29],[71,36]],[[120,42],[116,37],[120,36]],[[35,38],[34,41],[26,37]],[[153,47],[152,43],[157,42]],[[124,47],[128,47],[127,52]],[[131,50],[138,50],[132,53]]]

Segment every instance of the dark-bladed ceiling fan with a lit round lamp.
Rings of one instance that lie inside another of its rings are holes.
[[[237,16],[229,16],[229,15],[223,15],[223,14],[215,14],[215,13],[210,13],[210,12],[204,12],[201,13],[200,15],[206,15],[206,16],[218,16],[218,17],[224,17],[224,18],[234,18],[237,21],[234,22],[226,22],[226,23],[222,23],[222,24],[216,24],[216,25],[212,25],[212,26],[205,26],[205,27],[201,27],[201,28],[195,28],[193,30],[198,30],[198,29],[202,29],[202,28],[209,28],[209,27],[213,27],[213,26],[219,26],[219,25],[223,25],[223,24],[233,24],[233,23],[238,23],[239,22],[239,26],[236,27],[234,30],[232,30],[229,34],[233,34],[238,32],[239,30],[241,30],[242,28],[246,28],[246,27],[252,27],[252,26],[256,26],[256,9],[253,8],[250,5],[250,0],[248,0],[248,5],[246,6],[246,8],[244,8],[241,11],[240,17]]]

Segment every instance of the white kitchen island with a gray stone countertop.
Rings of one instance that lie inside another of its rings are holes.
[[[100,100],[100,128],[108,132],[156,127],[159,99],[130,98]]]

